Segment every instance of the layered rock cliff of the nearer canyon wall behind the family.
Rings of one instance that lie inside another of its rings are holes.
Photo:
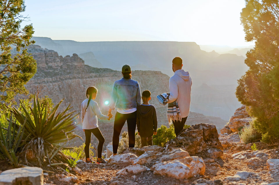
[[[87,87],[95,86],[99,90],[96,101],[103,113],[106,113],[108,105],[105,105],[105,101],[110,101],[114,81],[122,78],[120,71],[93,68],[85,65],[83,59],[76,54],[62,57],[56,51],[43,49],[37,45],[29,46],[28,52],[37,61],[37,73],[26,85],[31,93],[36,92],[39,85],[42,88],[42,96],[48,95],[54,103],[65,99],[62,106],[71,104],[73,109],[79,112],[81,102],[86,99]],[[141,91],[146,89],[151,91],[150,103],[157,109],[159,124],[168,125],[167,107],[158,103],[156,95],[169,91],[169,76],[160,71],[133,71],[132,75],[133,79],[139,81]],[[218,117],[191,112],[186,124],[193,125],[200,122],[217,125],[226,123]]]

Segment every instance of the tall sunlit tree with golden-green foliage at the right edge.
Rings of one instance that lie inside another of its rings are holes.
[[[275,0],[246,0],[241,12],[249,67],[238,80],[236,96],[257,117],[255,128],[264,141],[279,136],[279,4]]]

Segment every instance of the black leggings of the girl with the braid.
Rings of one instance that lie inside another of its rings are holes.
[[[102,152],[103,152],[103,145],[105,142],[105,138],[103,134],[101,133],[99,128],[93,128],[93,129],[85,129],[85,147],[84,147],[84,152],[85,152],[85,157],[89,158],[89,145],[91,142],[91,133],[94,134],[95,137],[99,140],[98,144],[98,158],[102,157]]]

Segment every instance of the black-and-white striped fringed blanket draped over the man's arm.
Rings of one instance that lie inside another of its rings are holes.
[[[166,105],[169,101],[169,93],[163,93],[157,96],[157,100],[160,104]],[[178,107],[177,100],[168,104],[167,118],[169,125],[172,124],[172,121],[181,121],[181,114]]]

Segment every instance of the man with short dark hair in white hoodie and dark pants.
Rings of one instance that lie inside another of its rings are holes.
[[[183,129],[190,112],[192,79],[188,71],[182,69],[182,59],[175,57],[172,60],[174,75],[169,79],[169,102],[178,102],[182,121],[173,121],[176,136]]]

